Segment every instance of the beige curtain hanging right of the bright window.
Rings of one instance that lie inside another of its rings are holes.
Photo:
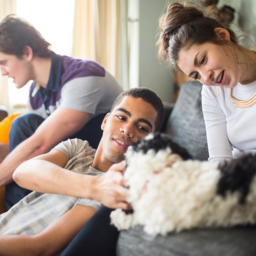
[[[75,0],[72,55],[99,62],[120,84],[128,83],[123,81],[127,80],[125,13],[125,0]]]

